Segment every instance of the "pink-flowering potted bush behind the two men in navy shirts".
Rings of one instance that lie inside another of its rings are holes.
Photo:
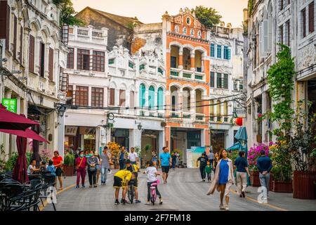
[[[265,154],[269,154],[269,147],[265,143],[254,144],[248,151],[248,163],[250,172],[251,186],[260,187],[259,170],[257,160],[261,156],[261,150],[265,150]]]

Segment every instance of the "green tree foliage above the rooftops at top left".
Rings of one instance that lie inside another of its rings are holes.
[[[74,14],[77,12],[74,10],[74,5],[71,0],[53,0],[53,3],[61,8],[60,25],[64,23],[67,25],[84,25],[82,20],[74,17]]]

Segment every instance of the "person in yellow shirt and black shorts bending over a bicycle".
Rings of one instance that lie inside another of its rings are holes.
[[[121,203],[125,205],[127,202],[125,200],[127,184],[131,180],[131,172],[126,169],[119,170],[116,174],[114,174],[114,184],[113,188],[115,188],[115,205],[119,205],[119,189],[122,188],[122,196]]]

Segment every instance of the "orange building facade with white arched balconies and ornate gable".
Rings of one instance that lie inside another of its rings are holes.
[[[209,146],[209,41],[190,11],[162,16],[166,60],[165,144],[186,161],[192,146]],[[205,106],[204,106],[205,105]]]

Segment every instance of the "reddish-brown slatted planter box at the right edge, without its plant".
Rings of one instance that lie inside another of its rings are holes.
[[[316,199],[316,171],[294,171],[293,198]]]

